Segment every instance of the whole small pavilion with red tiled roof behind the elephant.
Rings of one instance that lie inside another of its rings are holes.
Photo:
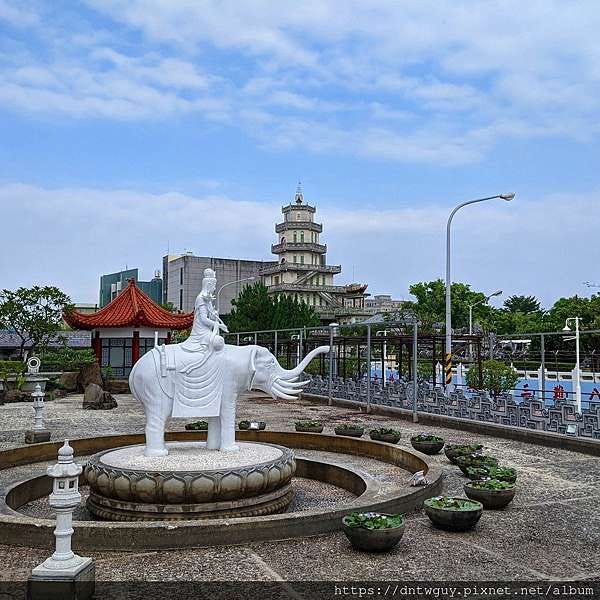
[[[73,329],[92,331],[92,348],[101,367],[110,367],[115,377],[127,377],[140,356],[159,344],[171,343],[171,331],[187,329],[194,313],[175,314],[159,306],[135,285],[129,285],[95,313],[71,311],[65,321]]]

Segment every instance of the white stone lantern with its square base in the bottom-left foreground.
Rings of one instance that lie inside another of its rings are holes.
[[[48,467],[53,479],[49,504],[56,510],[56,549],[50,558],[35,567],[28,582],[28,598],[91,598],[94,593],[95,566],[91,558],[71,550],[73,511],[81,502],[79,475],[82,468],[73,461],[69,441],[58,451],[58,463]]]

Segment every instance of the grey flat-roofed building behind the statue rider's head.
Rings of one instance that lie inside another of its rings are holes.
[[[163,302],[172,302],[175,310],[192,312],[196,296],[202,288],[204,269],[211,268],[217,275],[217,290],[227,283],[253,277],[253,281],[244,281],[223,288],[219,295],[219,312],[222,315],[231,311],[231,301],[239,296],[246,285],[260,280],[260,272],[271,263],[260,260],[240,260],[237,258],[215,258],[209,256],[163,257]]]

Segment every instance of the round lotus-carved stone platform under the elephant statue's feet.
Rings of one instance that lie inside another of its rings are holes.
[[[144,446],[92,456],[84,474],[88,509],[117,521],[214,519],[267,515],[292,500],[294,453],[283,446],[239,443],[238,452],[204,442],[173,442],[169,454],[144,456]]]

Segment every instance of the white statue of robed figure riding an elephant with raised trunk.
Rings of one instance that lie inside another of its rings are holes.
[[[159,346],[134,365],[129,386],[146,414],[146,456],[164,456],[165,424],[169,417],[203,417],[208,421],[207,448],[236,451],[235,408],[239,395],[262,390],[273,398],[294,400],[306,382],[298,378],[320,346],[294,369],[283,369],[262,346],[226,344],[227,327],[213,304],[217,279],[204,271],[194,308],[194,324],[181,344]]]

